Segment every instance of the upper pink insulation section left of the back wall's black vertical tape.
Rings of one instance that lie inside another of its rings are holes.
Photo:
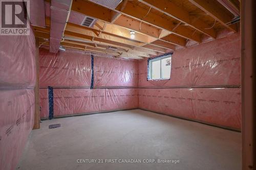
[[[91,56],[69,51],[49,53],[39,50],[40,87],[90,87]]]

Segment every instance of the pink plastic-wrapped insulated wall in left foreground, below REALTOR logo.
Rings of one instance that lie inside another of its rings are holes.
[[[0,169],[10,170],[16,168],[34,123],[33,32],[0,36],[0,54]]]

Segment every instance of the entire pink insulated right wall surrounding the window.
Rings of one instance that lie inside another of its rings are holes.
[[[147,81],[140,61],[139,88],[142,109],[240,130],[239,33],[175,51],[170,80]]]

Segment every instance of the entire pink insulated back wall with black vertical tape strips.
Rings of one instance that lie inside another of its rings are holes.
[[[45,48],[39,56],[41,118],[49,117],[48,86],[54,117],[138,108],[137,61],[72,50],[53,54]]]

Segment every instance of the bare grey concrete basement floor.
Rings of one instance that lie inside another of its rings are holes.
[[[61,127],[48,129],[58,123]],[[143,163],[149,159],[156,163]],[[157,163],[158,159],[179,163]],[[240,170],[241,133],[139,109],[57,118],[32,131],[17,169]]]

